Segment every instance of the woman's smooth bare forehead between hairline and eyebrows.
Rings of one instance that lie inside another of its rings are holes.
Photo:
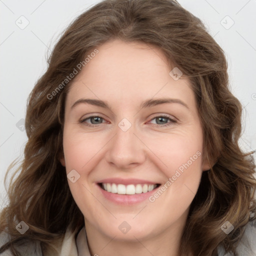
[[[121,40],[111,40],[96,48],[98,53],[72,82],[67,101],[83,96],[126,104],[154,96],[178,97],[184,101],[193,98],[186,78],[174,80],[169,75],[171,67],[159,48]]]

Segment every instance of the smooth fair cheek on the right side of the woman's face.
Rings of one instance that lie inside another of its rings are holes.
[[[202,141],[197,138],[166,140],[164,146],[168,152],[161,148],[161,160],[167,165],[161,171],[166,180],[150,196],[149,201],[155,208],[162,210],[162,218],[177,219],[189,207],[196,194],[202,173]]]

